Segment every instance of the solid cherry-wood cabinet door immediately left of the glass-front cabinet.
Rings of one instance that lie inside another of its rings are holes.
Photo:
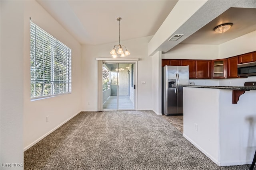
[[[211,78],[211,60],[196,61],[196,78]]]

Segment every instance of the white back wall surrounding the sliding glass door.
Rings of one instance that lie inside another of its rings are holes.
[[[150,37],[142,37],[128,41],[121,41],[130,51],[127,58],[138,58],[137,108],[138,110],[152,109],[152,58],[148,57],[148,42]],[[112,47],[118,44],[82,46],[82,110],[97,111],[97,57],[111,58]],[[99,50],[100,49],[100,50]],[[141,84],[144,81],[146,84]],[[88,105],[90,102],[90,105]]]

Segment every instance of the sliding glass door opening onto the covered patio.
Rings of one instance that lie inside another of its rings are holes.
[[[103,110],[134,109],[134,63],[102,65]]]

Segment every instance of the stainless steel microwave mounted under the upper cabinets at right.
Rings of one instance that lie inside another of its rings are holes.
[[[256,61],[237,64],[237,74],[238,76],[256,76]]]

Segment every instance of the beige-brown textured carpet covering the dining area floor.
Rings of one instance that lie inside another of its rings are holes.
[[[81,112],[24,152],[25,170],[248,170],[217,166],[153,111]]]

